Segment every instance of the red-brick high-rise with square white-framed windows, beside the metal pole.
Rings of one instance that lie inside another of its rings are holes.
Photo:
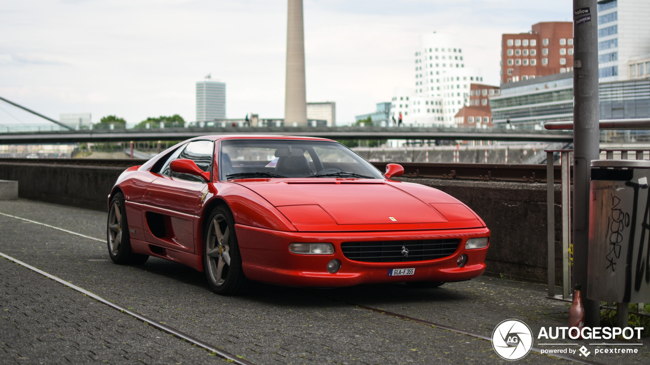
[[[545,21],[501,37],[501,83],[573,70],[573,23]]]

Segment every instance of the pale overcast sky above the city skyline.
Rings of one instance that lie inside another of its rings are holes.
[[[59,119],[196,118],[195,82],[226,82],[227,118],[283,118],[286,0],[0,0],[0,96]],[[447,32],[499,84],[500,35],[570,21],[569,0],[304,0],[307,101],[354,121],[412,86],[418,36]],[[0,101],[0,125],[47,123]]]

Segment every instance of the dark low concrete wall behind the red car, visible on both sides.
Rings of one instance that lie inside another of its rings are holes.
[[[125,168],[0,163],[0,179],[19,182],[19,197],[107,211],[107,195]],[[402,181],[432,186],[471,207],[492,232],[488,275],[546,282],[546,185],[437,179]],[[555,191],[556,278],[561,282],[560,188]]]

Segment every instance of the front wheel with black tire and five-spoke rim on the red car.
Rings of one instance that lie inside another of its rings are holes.
[[[246,291],[249,281],[242,269],[233,214],[219,205],[207,216],[203,232],[203,270],[210,288],[222,296]]]

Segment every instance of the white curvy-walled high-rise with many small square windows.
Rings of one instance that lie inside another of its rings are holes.
[[[480,70],[465,67],[466,53],[448,34],[420,36],[415,51],[415,88],[397,88],[391,115],[401,112],[404,123],[414,126],[454,124],[454,116],[469,102],[469,85],[483,81]]]

